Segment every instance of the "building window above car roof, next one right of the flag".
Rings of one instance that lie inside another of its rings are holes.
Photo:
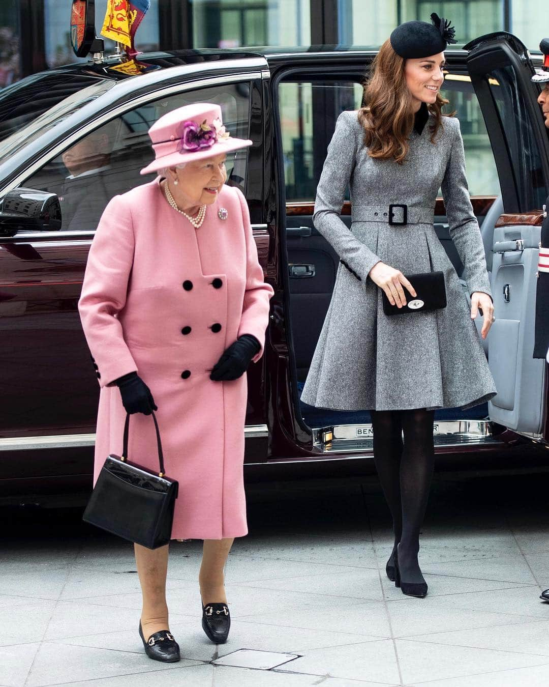
[[[310,45],[309,0],[192,0],[194,47]]]

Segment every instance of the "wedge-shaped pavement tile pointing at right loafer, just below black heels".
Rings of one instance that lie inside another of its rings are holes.
[[[309,630],[329,629],[344,635],[371,635],[390,637],[390,625],[386,607],[382,601],[362,602],[334,597],[331,607],[292,608],[255,616],[241,616],[242,622],[265,623],[278,627],[298,627]]]

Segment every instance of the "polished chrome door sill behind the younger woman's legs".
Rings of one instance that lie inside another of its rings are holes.
[[[313,429],[313,445],[323,453],[358,453],[373,451],[372,425],[334,425]],[[489,420],[456,420],[434,423],[436,448],[471,444],[498,444],[492,436]]]

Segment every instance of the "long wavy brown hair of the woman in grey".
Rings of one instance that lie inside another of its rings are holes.
[[[394,159],[401,165],[410,148],[409,136],[414,126],[412,94],[406,84],[404,65],[406,60],[397,55],[387,39],[375,56],[369,79],[364,82],[362,107],[358,121],[364,126],[364,145],[368,155],[380,160]],[[439,128],[444,128],[442,107],[449,101],[436,93],[436,102],[428,104],[434,115],[430,124],[431,143]]]

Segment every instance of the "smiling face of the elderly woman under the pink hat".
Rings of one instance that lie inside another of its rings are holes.
[[[170,190],[179,207],[215,203],[226,181],[226,154],[187,162],[183,169],[170,170]],[[177,185],[174,181],[177,179]]]

